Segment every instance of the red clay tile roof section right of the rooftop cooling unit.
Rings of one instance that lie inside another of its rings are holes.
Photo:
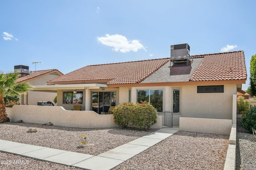
[[[246,80],[244,51],[196,55],[204,57],[189,81]]]

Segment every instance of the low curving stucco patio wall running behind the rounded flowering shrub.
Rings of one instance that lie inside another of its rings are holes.
[[[112,128],[118,127],[113,120],[113,115],[99,115],[94,111],[71,111],[61,106],[30,106],[14,105],[6,108],[11,122],[22,120],[26,123],[53,123],[62,127],[78,128]],[[157,123],[151,128],[161,129],[162,119],[157,118]]]

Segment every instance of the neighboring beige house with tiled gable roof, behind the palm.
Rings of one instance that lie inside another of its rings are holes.
[[[38,70],[32,71],[30,74],[20,74],[17,82],[28,82],[32,86],[38,85],[47,85],[47,81],[58,76],[62,76],[63,74],[56,70]],[[25,95],[21,95],[20,104],[25,105],[37,105],[38,101],[46,101],[46,102],[53,102],[57,93],[52,92],[36,92],[36,91],[29,91]]]

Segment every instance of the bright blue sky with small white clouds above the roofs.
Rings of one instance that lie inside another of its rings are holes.
[[[66,74],[91,64],[243,50],[256,54],[255,0],[0,0],[0,70]],[[248,87],[249,81],[243,85]]]

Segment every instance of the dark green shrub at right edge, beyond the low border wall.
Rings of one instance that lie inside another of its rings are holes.
[[[252,128],[256,129],[256,106],[246,109],[241,117],[241,126],[252,132]]]

